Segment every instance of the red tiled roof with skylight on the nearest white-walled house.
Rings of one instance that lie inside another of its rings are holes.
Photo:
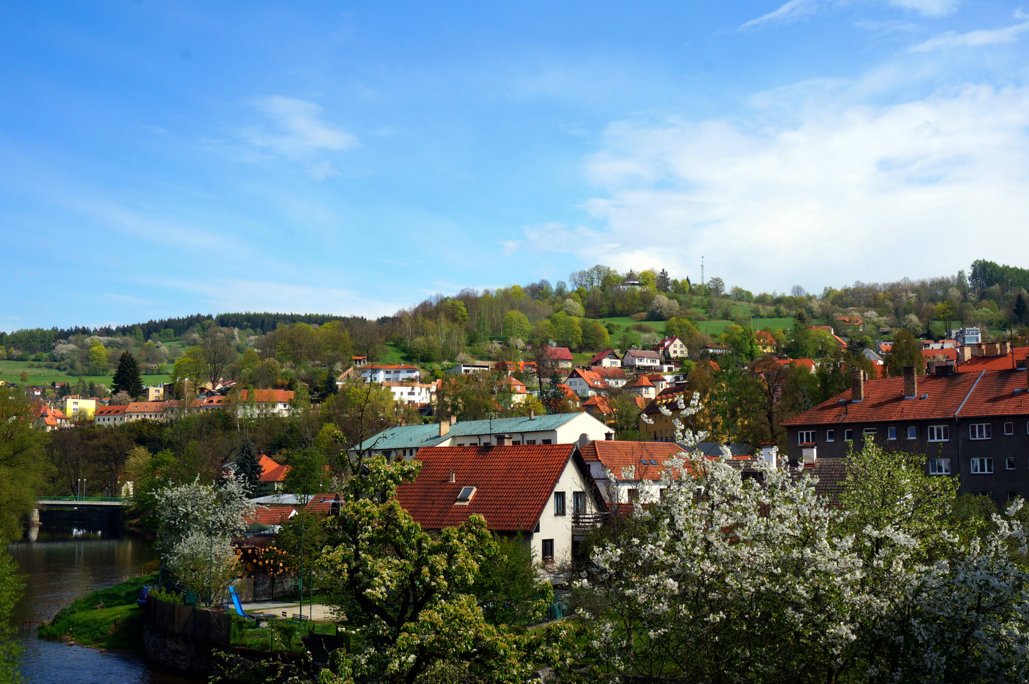
[[[574,444],[424,449],[416,457],[422,462],[418,478],[400,485],[396,498],[427,530],[460,525],[481,513],[491,530],[531,532],[573,457],[583,479],[592,481]],[[474,494],[467,505],[455,505],[465,487],[474,487]]]

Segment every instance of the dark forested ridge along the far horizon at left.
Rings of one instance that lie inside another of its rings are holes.
[[[355,320],[363,321],[363,318],[352,316],[332,316],[330,314],[274,314],[271,312],[257,313],[246,312],[242,314],[193,314],[192,316],[182,316],[179,318],[163,318],[161,320],[149,320],[146,323],[133,323],[131,325],[119,325],[117,327],[74,327],[74,328],[29,328],[16,330],[14,332],[0,331],[0,345],[14,347],[28,352],[43,352],[54,348],[58,339],[66,339],[77,334],[127,334],[149,339],[151,335],[156,335],[164,340],[176,339],[182,336],[189,328],[201,325],[204,321],[214,321],[213,325],[223,328],[249,328],[255,332],[267,333],[275,330],[280,324],[308,323],[321,325],[327,321]]]

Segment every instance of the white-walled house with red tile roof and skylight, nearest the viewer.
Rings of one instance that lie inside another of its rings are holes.
[[[607,508],[575,444],[445,446],[418,454],[422,470],[397,501],[426,530],[486,518],[501,535],[521,534],[552,581],[563,581],[587,533]]]

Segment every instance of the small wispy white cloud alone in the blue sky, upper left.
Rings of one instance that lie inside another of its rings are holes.
[[[282,131],[280,134],[253,129],[245,131],[244,137],[257,147],[297,157],[318,150],[341,151],[358,145],[356,137],[323,121],[322,108],[313,102],[273,95],[253,98],[250,104],[267,114]]]

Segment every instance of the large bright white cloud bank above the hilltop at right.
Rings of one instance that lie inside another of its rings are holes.
[[[612,123],[587,163],[605,192],[584,206],[605,228],[534,226],[527,248],[678,277],[704,255],[708,276],[769,289],[953,274],[1029,248],[1029,88],[793,107],[788,124]]]

